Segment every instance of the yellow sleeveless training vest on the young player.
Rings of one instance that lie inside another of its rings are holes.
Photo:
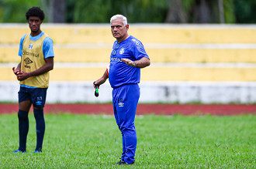
[[[36,41],[29,39],[29,33],[22,44],[22,61],[21,70],[26,73],[33,72],[45,64],[43,56],[43,40],[48,35],[44,33],[42,37]],[[21,81],[19,84],[26,86],[33,86],[39,88],[47,88],[49,86],[49,72],[43,73],[39,76],[32,76]]]

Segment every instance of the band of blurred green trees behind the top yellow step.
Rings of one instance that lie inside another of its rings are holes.
[[[63,13],[54,10],[58,5],[51,6],[52,1],[65,2]],[[256,23],[255,0],[222,2],[226,23]],[[50,22],[57,14],[69,23],[106,23],[122,14],[133,23],[220,23],[218,0],[0,0],[0,22],[26,22],[25,13],[32,6],[43,8]]]

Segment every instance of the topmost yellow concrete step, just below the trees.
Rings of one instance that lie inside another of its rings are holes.
[[[47,24],[41,29],[54,43],[112,44],[109,24]],[[27,24],[0,24],[0,43],[19,43]],[[143,43],[256,43],[255,25],[130,24],[129,34]]]

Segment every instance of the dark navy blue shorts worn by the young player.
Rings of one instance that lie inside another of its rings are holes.
[[[48,88],[26,88],[20,87],[19,89],[19,103],[26,100],[31,100],[33,106],[44,107],[47,98]]]

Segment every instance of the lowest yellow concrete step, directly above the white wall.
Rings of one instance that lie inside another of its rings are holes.
[[[55,63],[50,80],[93,81],[106,70],[107,63]],[[16,63],[0,65],[1,80],[16,80],[12,73]],[[151,64],[141,69],[141,80],[147,81],[256,81],[255,63],[169,63]]]

